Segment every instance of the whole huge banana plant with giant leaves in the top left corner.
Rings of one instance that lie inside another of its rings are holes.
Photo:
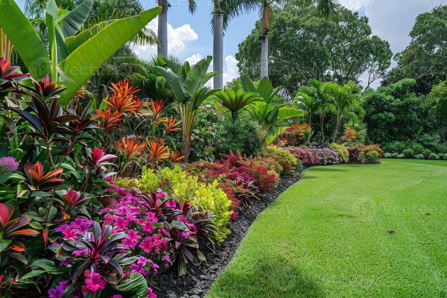
[[[51,82],[65,84],[67,89],[60,98],[62,105],[67,105],[81,86],[161,11],[157,6],[139,15],[101,22],[76,34],[89,16],[92,5],[93,0],[85,0],[72,11],[67,11],[59,8],[55,0],[48,1],[47,53],[38,33],[16,2],[0,0],[0,27],[31,77],[40,81],[49,74]]]

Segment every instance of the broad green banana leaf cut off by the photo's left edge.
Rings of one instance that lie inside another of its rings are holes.
[[[0,27],[4,29],[30,75],[42,80],[50,73],[50,60],[42,40],[15,1],[0,0]]]

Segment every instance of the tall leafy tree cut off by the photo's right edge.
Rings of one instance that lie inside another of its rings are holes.
[[[409,34],[409,46],[394,56],[397,66],[388,72],[382,85],[388,86],[410,78],[416,80],[414,88],[417,94],[427,94],[433,84],[446,80],[446,27],[447,5],[437,6],[417,16]]]

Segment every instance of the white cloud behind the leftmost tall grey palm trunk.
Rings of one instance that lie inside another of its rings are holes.
[[[156,34],[158,32],[158,17],[149,22],[146,26],[152,29]],[[197,33],[191,28],[189,24],[184,24],[180,27],[173,28],[168,23],[168,54],[180,55],[186,48],[189,42],[198,39]],[[156,46],[135,46],[134,51],[137,55],[143,58],[148,58],[157,53]]]

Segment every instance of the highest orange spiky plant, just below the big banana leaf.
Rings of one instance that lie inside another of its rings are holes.
[[[117,84],[112,83],[110,87],[113,94],[108,100],[104,101],[114,108],[118,113],[132,112],[137,106],[135,105],[134,95],[136,92],[140,91],[138,86],[132,87],[132,83],[126,80],[120,80]]]

